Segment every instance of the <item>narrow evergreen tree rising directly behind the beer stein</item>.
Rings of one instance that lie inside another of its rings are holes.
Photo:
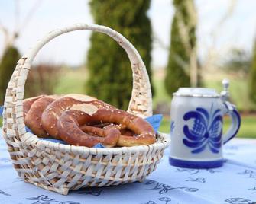
[[[171,26],[169,59],[164,80],[165,88],[170,97],[178,88],[190,87],[190,53],[187,52],[186,46],[193,49],[196,45],[196,27],[191,26],[190,23],[192,19],[188,11],[188,3],[191,3],[189,1],[173,0],[175,14]],[[182,33],[179,26],[180,21],[188,29],[187,45],[180,34]]]

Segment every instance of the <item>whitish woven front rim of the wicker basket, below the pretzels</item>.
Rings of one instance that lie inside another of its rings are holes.
[[[68,144],[60,144],[47,140],[41,140],[37,137],[37,135],[32,134],[31,132],[26,132],[22,138],[22,145],[29,146],[32,145],[34,147],[40,148],[51,148],[56,151],[63,151],[66,153],[73,154],[92,154],[92,155],[109,155],[112,153],[114,155],[125,154],[125,153],[136,153],[140,151],[149,151],[151,149],[158,150],[167,148],[170,145],[170,136],[161,132],[157,132],[157,142],[151,145],[138,145],[132,147],[116,147],[116,148],[89,148],[85,146],[76,146],[76,145],[68,145]]]

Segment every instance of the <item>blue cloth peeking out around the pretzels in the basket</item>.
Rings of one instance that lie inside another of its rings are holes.
[[[0,107],[0,116],[2,116],[3,110],[4,110],[4,107]],[[151,126],[153,126],[154,132],[157,132],[157,130],[159,129],[162,119],[163,119],[163,115],[161,114],[156,114],[156,115],[145,118],[145,120],[147,120],[147,122],[151,123]],[[29,129],[27,126],[25,126],[25,128],[27,132],[33,133],[31,129]],[[50,139],[50,138],[39,138],[39,139],[66,145],[66,142],[59,139]],[[101,143],[98,143],[97,145],[94,145],[93,148],[105,148],[105,146],[102,145]]]

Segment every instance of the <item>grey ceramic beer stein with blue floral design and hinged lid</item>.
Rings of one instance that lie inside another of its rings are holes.
[[[223,94],[224,93],[224,94]],[[241,118],[226,101],[228,91],[179,88],[171,102],[170,164],[177,167],[211,168],[223,164],[222,146],[238,132]],[[223,116],[232,125],[222,134]]]

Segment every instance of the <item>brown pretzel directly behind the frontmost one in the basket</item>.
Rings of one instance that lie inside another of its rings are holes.
[[[97,107],[111,107],[109,104],[105,104],[101,100],[97,100],[94,97],[89,97],[83,94],[67,94],[58,100],[53,101],[42,114],[42,126],[56,139],[60,139],[57,129],[57,121],[59,120],[61,114],[70,110],[74,104],[94,104]],[[112,107],[115,108],[115,107]]]

